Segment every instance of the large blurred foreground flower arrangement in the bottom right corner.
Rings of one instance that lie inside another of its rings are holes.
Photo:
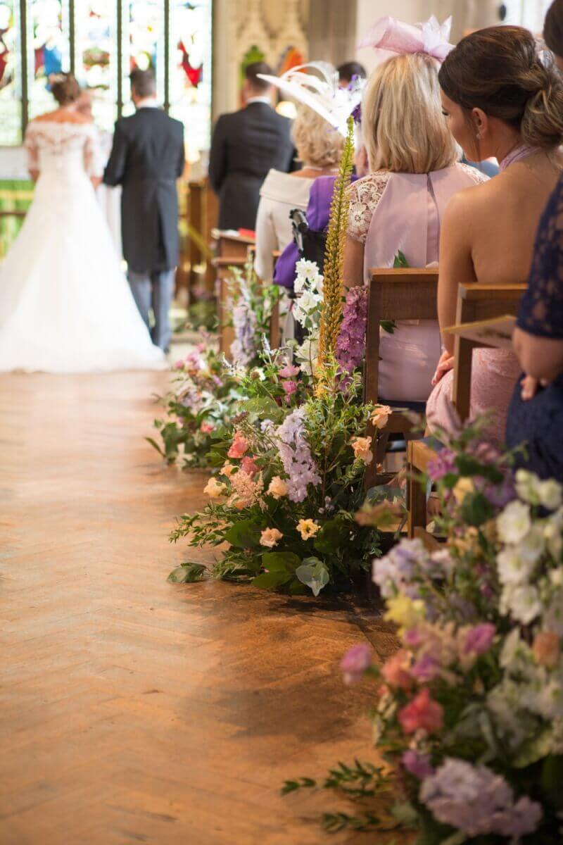
[[[420,845],[555,845],[563,841],[563,488],[514,474],[511,455],[480,430],[458,429],[429,467],[444,548],[403,540],[374,562],[399,650],[380,667],[360,644],[342,668],[347,683],[380,684],[373,731],[388,770],[378,777],[403,794],[392,812]],[[290,782],[302,786],[311,783]]]

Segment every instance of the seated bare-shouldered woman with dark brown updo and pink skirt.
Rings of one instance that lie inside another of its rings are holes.
[[[447,123],[468,159],[494,155],[501,174],[452,200],[441,232],[438,316],[455,324],[460,283],[523,283],[533,239],[560,175],[563,85],[540,61],[533,35],[521,27],[490,27],[468,35],[442,64]],[[427,404],[430,430],[447,425],[452,396],[452,335]],[[471,380],[471,415],[492,411],[488,434],[504,437],[506,409],[519,371],[512,352],[478,349]]]

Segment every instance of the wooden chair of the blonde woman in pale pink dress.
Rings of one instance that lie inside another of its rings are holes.
[[[365,338],[364,401],[379,401],[379,345],[382,320],[438,319],[437,313],[437,269],[373,269],[368,292],[367,334]],[[403,412],[393,412],[385,433],[409,433],[413,423]],[[376,429],[369,432],[374,437]],[[371,462],[365,472],[365,486],[371,488],[384,484],[393,473],[378,473],[377,459]]]

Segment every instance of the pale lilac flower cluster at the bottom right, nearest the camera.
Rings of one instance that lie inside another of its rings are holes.
[[[420,800],[436,820],[468,837],[496,834],[518,842],[537,829],[543,815],[526,796],[515,802],[512,788],[494,771],[452,758],[423,780]]]

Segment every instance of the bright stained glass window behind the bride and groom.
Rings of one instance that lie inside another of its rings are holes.
[[[0,0],[0,145],[20,144],[28,117],[55,106],[50,74],[72,69],[89,91],[95,123],[111,131],[116,117],[133,112],[129,74],[153,68],[159,101],[185,124],[196,161],[210,139],[212,7],[213,0]]]

